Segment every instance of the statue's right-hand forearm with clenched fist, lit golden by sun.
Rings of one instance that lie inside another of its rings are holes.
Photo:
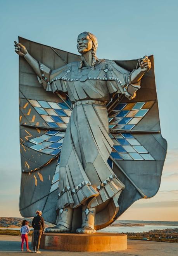
[[[138,83],[142,79],[145,72],[151,68],[151,62],[147,56],[139,60],[140,67],[131,73],[131,83]]]

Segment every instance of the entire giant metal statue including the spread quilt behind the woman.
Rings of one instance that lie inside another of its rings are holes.
[[[43,211],[56,224],[46,232],[92,234],[159,189],[167,145],[153,57],[98,59],[88,32],[81,57],[19,42],[21,214]]]

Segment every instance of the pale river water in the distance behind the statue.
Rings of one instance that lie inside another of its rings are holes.
[[[178,226],[168,226],[168,225],[145,225],[142,227],[107,227],[99,230],[99,232],[117,232],[117,233],[127,233],[127,232],[147,232],[149,230],[154,229],[166,229],[166,228],[178,228]],[[0,229],[14,229],[14,230],[20,230],[20,228],[0,228]],[[30,228],[33,230],[32,228]]]

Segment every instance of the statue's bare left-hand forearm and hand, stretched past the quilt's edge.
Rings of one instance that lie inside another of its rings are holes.
[[[16,41],[14,41],[14,43],[15,43],[15,52],[18,55],[23,56],[26,59],[26,61],[29,63],[29,65],[33,68],[35,73],[41,78],[41,71],[40,71],[38,61],[36,61],[36,59],[34,59],[28,53],[28,51],[27,51],[26,47],[24,47],[24,45],[22,45],[21,43],[17,43]]]

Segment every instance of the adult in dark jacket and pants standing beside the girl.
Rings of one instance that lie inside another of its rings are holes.
[[[43,217],[41,217],[41,211],[36,211],[37,216],[33,218],[31,223],[33,231],[33,253],[41,253],[39,251],[41,235],[44,233],[45,225]]]

